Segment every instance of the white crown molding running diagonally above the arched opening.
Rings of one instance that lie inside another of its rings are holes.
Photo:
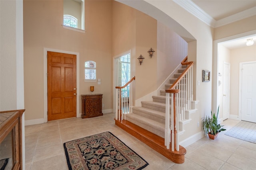
[[[197,6],[192,0],[173,0],[176,4],[184,8],[186,11],[190,12],[199,20],[203,21],[207,25],[214,27],[216,20],[212,18],[209,14],[204,12],[199,6]]]

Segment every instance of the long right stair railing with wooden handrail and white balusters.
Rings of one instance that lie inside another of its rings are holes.
[[[164,145],[172,151],[179,151],[179,121],[186,119],[185,111],[191,109],[193,100],[193,65],[188,62],[188,56],[181,62],[187,68],[177,78],[169,89],[166,89],[166,118],[165,118],[165,140]],[[171,99],[171,104],[170,104]],[[171,107],[171,108],[170,108]],[[171,114],[170,114],[171,110]],[[171,125],[170,125],[171,119]]]

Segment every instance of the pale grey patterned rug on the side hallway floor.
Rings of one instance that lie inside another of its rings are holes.
[[[225,135],[251,143],[256,143],[256,123],[240,121],[229,131],[227,131]]]

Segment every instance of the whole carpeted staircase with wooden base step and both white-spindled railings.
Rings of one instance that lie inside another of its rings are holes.
[[[196,110],[195,104],[191,101],[193,95],[190,95],[193,62],[186,61],[187,57],[182,61],[182,68],[170,79],[170,83],[165,84],[165,89],[160,90],[160,95],[152,96],[152,101],[142,101],[141,107],[132,107],[132,113],[127,114],[122,113],[122,102],[117,104],[120,105],[120,109],[116,108],[117,126],[175,163],[183,163],[185,160],[186,149],[179,145],[178,136],[184,133],[184,124],[190,122],[190,113]],[[186,68],[187,64],[189,68]],[[129,83],[131,82],[130,80]],[[124,86],[116,87],[117,98],[118,89],[121,88]]]

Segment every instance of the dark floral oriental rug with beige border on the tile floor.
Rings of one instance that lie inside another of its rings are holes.
[[[69,170],[142,170],[141,156],[110,132],[64,143]]]

